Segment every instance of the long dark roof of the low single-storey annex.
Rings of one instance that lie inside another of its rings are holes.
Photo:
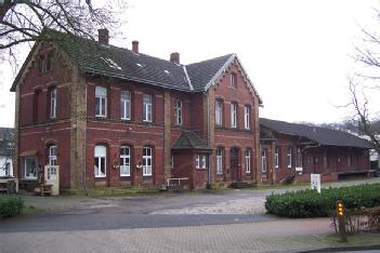
[[[372,148],[372,145],[368,141],[338,130],[264,118],[260,118],[260,124],[280,134],[306,137],[320,145]]]

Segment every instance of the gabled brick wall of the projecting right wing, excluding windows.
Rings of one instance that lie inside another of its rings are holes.
[[[234,74],[236,77],[236,88],[232,88],[230,76]],[[223,122],[222,125],[215,125],[215,101],[223,102]],[[210,135],[211,147],[213,154],[211,156],[212,183],[231,183],[231,157],[232,148],[238,148],[238,172],[237,181],[255,182],[257,170],[257,136],[259,131],[257,123],[259,121],[258,106],[259,98],[253,93],[252,88],[248,83],[243,70],[237,62],[233,63],[215,84],[209,90],[209,110],[210,110]],[[237,103],[237,128],[231,126],[231,103]],[[250,130],[245,130],[244,107],[250,106]],[[223,173],[217,174],[217,148],[223,148]],[[251,149],[251,172],[246,172],[245,150]]]

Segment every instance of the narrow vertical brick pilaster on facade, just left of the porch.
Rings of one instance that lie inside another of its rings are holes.
[[[163,94],[163,169],[165,169],[165,184],[168,178],[171,177],[170,173],[170,158],[171,158],[171,115],[170,115],[170,106],[171,106],[171,96],[170,91],[166,90]]]

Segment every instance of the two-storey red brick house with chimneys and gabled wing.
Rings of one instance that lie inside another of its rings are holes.
[[[11,91],[16,93],[15,173],[37,184],[60,167],[61,189],[257,182],[257,90],[235,54],[181,65],[48,31]]]

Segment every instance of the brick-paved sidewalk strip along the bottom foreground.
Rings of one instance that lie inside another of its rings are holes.
[[[2,252],[296,252],[342,247],[329,218],[169,228],[1,234]],[[349,239],[350,241],[350,239]],[[380,234],[369,241],[380,242]],[[349,243],[348,245],[351,245]]]

